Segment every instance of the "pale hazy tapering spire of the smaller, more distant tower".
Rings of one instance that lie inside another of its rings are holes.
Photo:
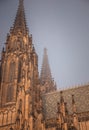
[[[44,48],[44,55],[43,55],[43,63],[40,75],[41,83],[44,83],[48,80],[52,80],[51,70],[48,61],[47,49]]]

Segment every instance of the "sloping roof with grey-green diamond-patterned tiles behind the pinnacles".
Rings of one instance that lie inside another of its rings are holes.
[[[69,114],[72,113],[72,95],[74,95],[77,113],[89,111],[89,85],[63,90],[64,101]],[[43,110],[45,119],[56,117],[57,102],[60,102],[60,91],[43,95]]]

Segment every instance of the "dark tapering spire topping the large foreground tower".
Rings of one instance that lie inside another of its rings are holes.
[[[17,9],[16,18],[13,25],[13,32],[17,33],[18,31],[26,34],[27,33],[27,26],[26,26],[26,20],[25,20],[25,12],[24,12],[24,0],[19,0],[19,6]]]

